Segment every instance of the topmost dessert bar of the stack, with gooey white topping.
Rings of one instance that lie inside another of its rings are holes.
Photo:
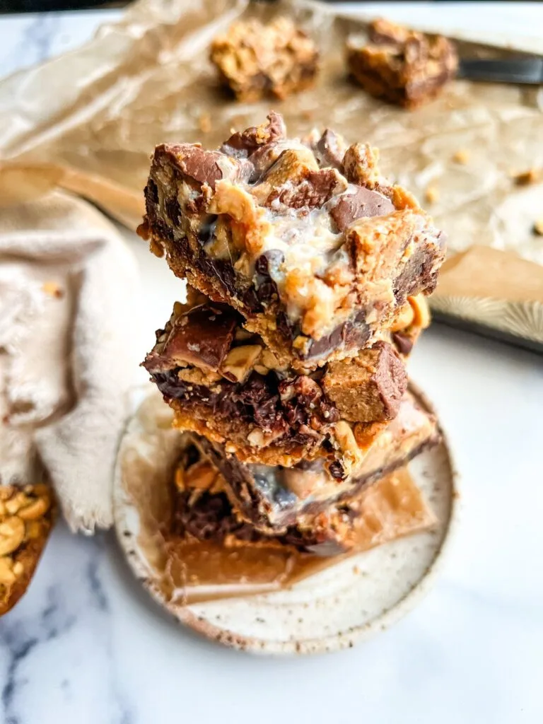
[[[279,362],[314,369],[371,347],[437,283],[445,235],[376,161],[330,130],[289,140],[273,112],[216,151],[157,146],[139,233]]]

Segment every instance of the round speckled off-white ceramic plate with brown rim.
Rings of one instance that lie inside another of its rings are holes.
[[[429,588],[455,517],[456,476],[445,436],[409,466],[437,516],[432,531],[343,559],[290,589],[183,605],[164,586],[160,573],[164,552],[157,511],[164,505],[160,491],[165,489],[165,476],[171,474],[179,439],[179,432],[169,429],[170,422],[159,395],[151,394],[138,406],[119,448],[114,512],[119,542],[132,571],[185,625],[250,652],[332,651],[352,647],[391,626]]]

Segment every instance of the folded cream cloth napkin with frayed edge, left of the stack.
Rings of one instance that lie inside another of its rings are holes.
[[[0,206],[0,484],[45,475],[72,530],[106,528],[138,374],[135,259],[67,193]]]

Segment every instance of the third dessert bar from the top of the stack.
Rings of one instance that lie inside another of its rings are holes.
[[[366,432],[361,462],[343,480],[330,475],[322,459],[303,461],[292,468],[244,464],[205,437],[195,436],[195,444],[222,472],[230,498],[245,521],[279,535],[334,503],[352,500],[371,482],[439,442],[435,418],[421,409],[412,395],[405,395],[392,422],[368,426]]]

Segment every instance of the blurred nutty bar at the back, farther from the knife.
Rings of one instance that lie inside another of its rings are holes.
[[[211,43],[211,62],[238,101],[285,98],[313,85],[319,65],[315,43],[287,17],[264,24],[235,22]]]

